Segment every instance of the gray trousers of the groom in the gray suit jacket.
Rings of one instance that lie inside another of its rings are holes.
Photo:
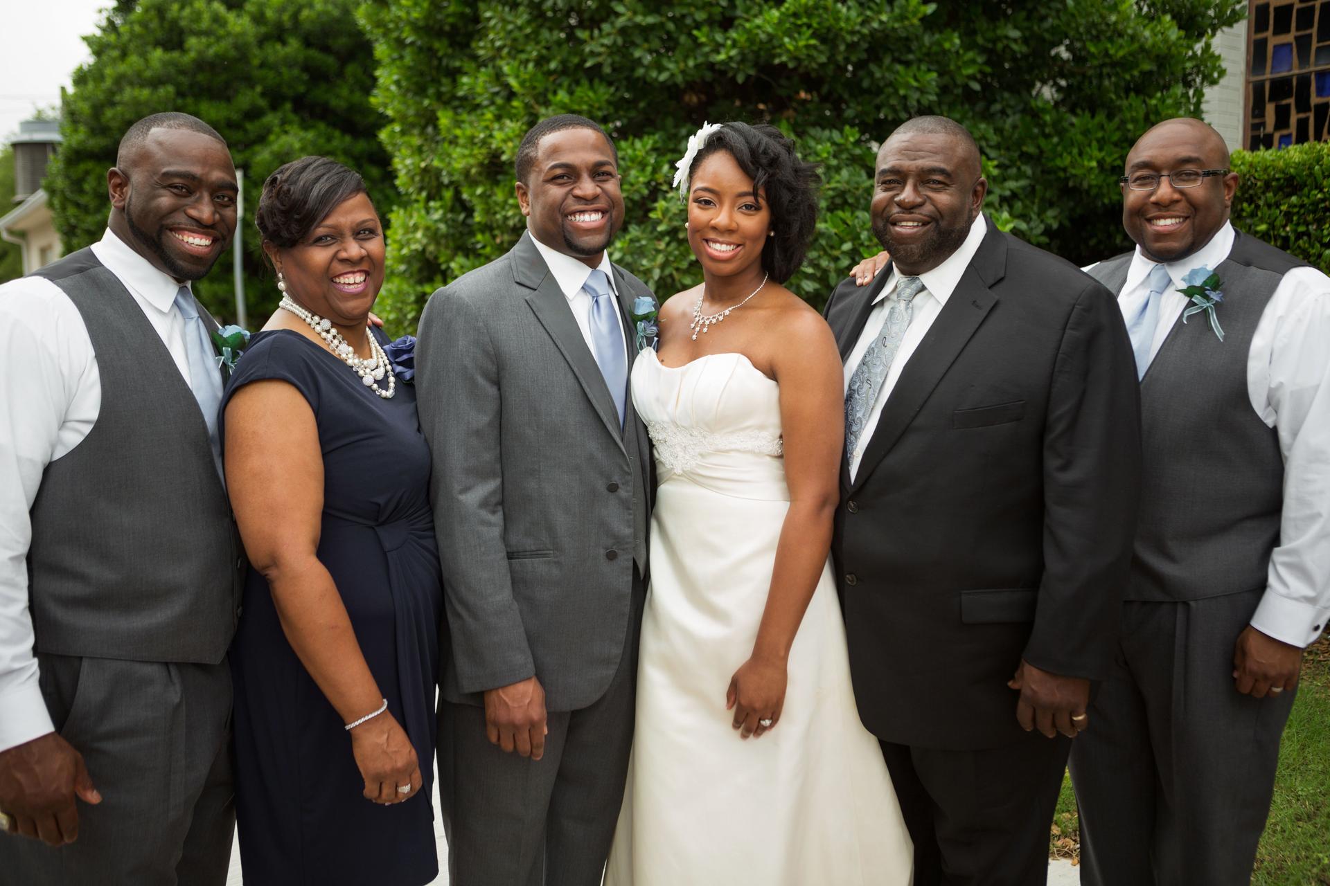
[[[489,744],[483,707],[440,700],[439,800],[452,886],[600,886],[633,745],[644,599],[634,580],[609,688],[587,708],[549,712],[540,760]]]

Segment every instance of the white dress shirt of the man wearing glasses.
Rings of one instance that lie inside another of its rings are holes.
[[[1152,359],[1188,304],[1177,292],[1182,278],[1193,268],[1217,268],[1233,239],[1225,222],[1204,247],[1164,264],[1173,287],[1160,302]],[[1154,264],[1137,246],[1117,299],[1124,316],[1134,316],[1149,298],[1145,280]],[[1218,313],[1222,323],[1222,304]],[[1330,619],[1330,278],[1310,267],[1283,275],[1252,336],[1246,369],[1252,409],[1275,429],[1283,454],[1279,546],[1252,627],[1305,647]]]

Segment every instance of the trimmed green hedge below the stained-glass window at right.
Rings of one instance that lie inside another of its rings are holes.
[[[1233,223],[1330,274],[1330,142],[1234,151]]]

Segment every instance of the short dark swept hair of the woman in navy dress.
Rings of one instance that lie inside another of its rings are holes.
[[[254,224],[265,242],[289,250],[356,194],[370,195],[354,169],[327,157],[302,157],[279,166],[263,182]]]

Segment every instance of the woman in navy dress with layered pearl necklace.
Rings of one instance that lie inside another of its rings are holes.
[[[283,298],[222,401],[251,566],[230,652],[245,883],[428,883],[442,588],[415,392],[367,323],[383,228],[322,157],[273,173],[257,221]]]

